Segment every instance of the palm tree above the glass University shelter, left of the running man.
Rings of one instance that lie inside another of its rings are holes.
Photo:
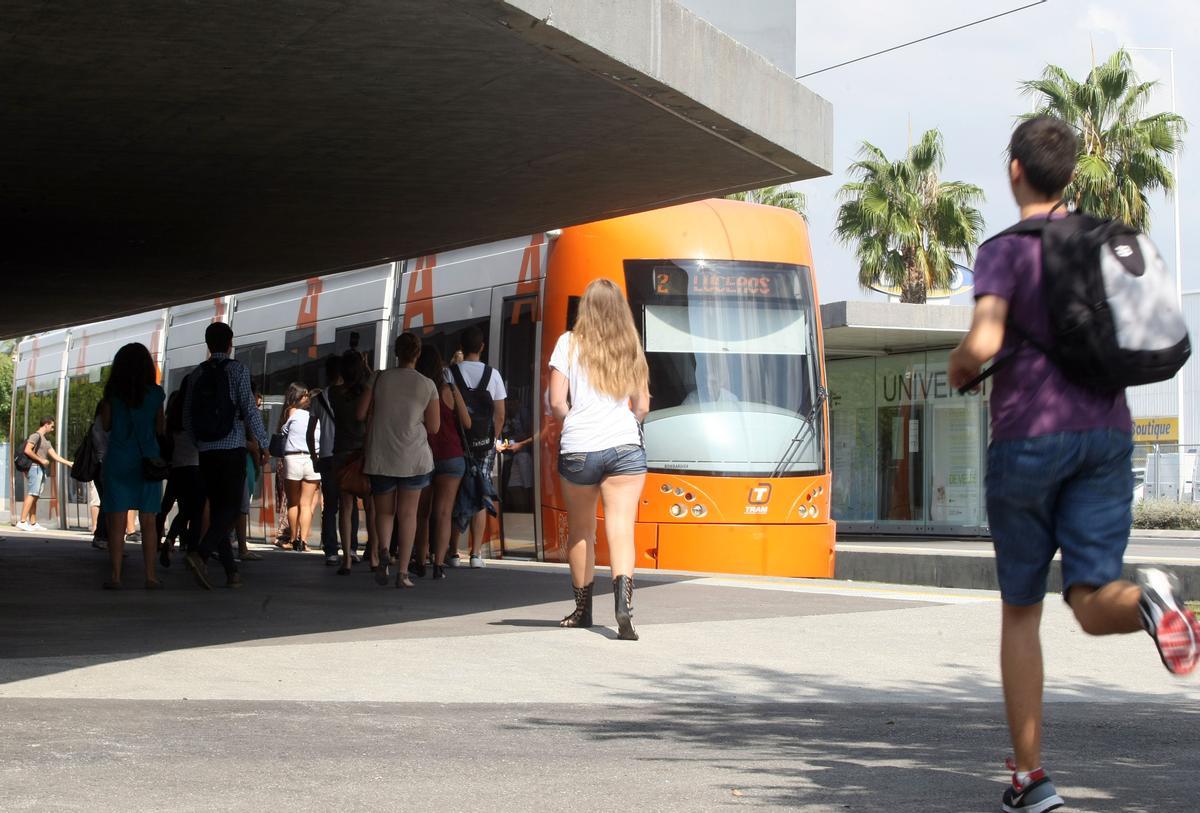
[[[946,156],[942,134],[930,130],[900,161],[863,143],[838,192],[834,234],[854,246],[858,284],[900,289],[901,302],[922,303],[929,287],[949,285],[955,254],[971,260],[983,234],[974,204],[983,189],[938,177]]]

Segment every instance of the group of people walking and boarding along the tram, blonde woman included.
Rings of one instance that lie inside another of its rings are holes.
[[[326,386],[290,384],[270,438],[250,371],[232,357],[230,327],[214,323],[205,343],[209,357],[169,398],[144,345],[127,344],[113,360],[90,433],[98,465],[90,483],[98,502],[94,543],[107,547],[110,561],[104,589],[125,586],[131,516],[142,529],[148,590],[161,589],[158,568],[172,566],[176,544],[202,588],[214,588],[212,559],[224,571],[224,585],[240,588],[239,562],[260,559],[246,544],[248,514],[271,460],[286,511],[280,548],[308,549],[319,500],[325,564],[349,574],[361,561],[361,499],[364,558],[379,585],[410,589],[414,578],[445,579],[446,568],[461,561],[463,531],[469,567],[484,566],[487,516],[498,500],[492,476],[500,450],[497,429],[514,427],[512,445],[500,451],[514,458],[524,452],[529,464],[534,438],[516,426],[517,416],[506,420],[504,380],[482,361],[478,327],[463,331],[461,357],[449,365],[412,332],[396,338],[395,363],[380,372],[372,372],[358,349],[326,359]],[[551,357],[550,405],[563,426],[558,472],[575,594],[575,609],[562,626],[592,625],[595,508],[601,500],[619,638],[636,640],[634,520],[646,477],[641,420],[649,393],[646,357],[613,283],[593,282],[574,331],[559,337]],[[46,439],[53,428],[53,421],[43,421],[25,442],[32,474],[18,525],[23,530],[40,528],[36,506],[47,466],[52,460],[71,465]],[[520,471],[516,476],[528,478]],[[104,536],[107,546],[101,544]]]

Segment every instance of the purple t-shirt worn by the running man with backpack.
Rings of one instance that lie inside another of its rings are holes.
[[[976,299],[1008,302],[1009,318],[1034,339],[1051,344],[1050,312],[1042,296],[1042,240],[1013,234],[979,249]],[[1018,347],[1020,348],[1018,349]],[[1006,331],[1000,355],[1016,357],[997,371],[991,390],[991,435],[996,440],[1037,438],[1087,429],[1133,430],[1124,392],[1099,393],[1072,384],[1040,351]],[[997,356],[998,357],[998,356]]]

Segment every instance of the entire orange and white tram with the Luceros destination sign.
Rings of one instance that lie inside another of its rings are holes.
[[[484,360],[506,384],[503,434],[533,439],[522,453],[500,456],[492,553],[563,561],[566,513],[546,371],[596,277],[625,291],[650,369],[637,566],[832,576],[829,416],[811,251],[803,218],[769,206],[703,200],[26,337],[11,436],[26,438],[40,417],[54,417],[55,445],[70,453],[126,342],[150,349],[170,391],[204,360],[204,327],[230,323],[234,354],[274,423],[289,383],[325,384],[330,353],[355,347],[385,367],[395,337],[410,330],[449,359],[462,330],[475,325],[487,342]],[[10,476],[7,486],[19,505],[24,480]],[[54,476],[49,489],[48,519],[86,528],[86,488]],[[268,474],[253,496],[258,538],[274,534],[274,492]],[[602,517],[599,536],[604,564]]]

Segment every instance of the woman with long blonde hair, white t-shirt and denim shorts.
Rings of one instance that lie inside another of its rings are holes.
[[[566,502],[566,556],[575,612],[564,627],[592,626],[596,498],[604,501],[617,631],[634,631],[634,520],[646,482],[641,422],[650,406],[646,355],[629,303],[608,279],[580,300],[575,330],[558,337],[550,357],[550,405],[562,423],[558,475]]]

